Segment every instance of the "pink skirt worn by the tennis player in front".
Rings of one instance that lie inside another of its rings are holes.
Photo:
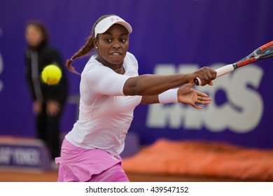
[[[121,165],[122,160],[119,155],[113,156],[97,148],[79,148],[64,139],[61,157],[55,158],[55,162],[59,164],[58,182],[85,182],[114,165]]]

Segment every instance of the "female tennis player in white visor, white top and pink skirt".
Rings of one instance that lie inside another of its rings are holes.
[[[193,73],[139,76],[137,59],[130,52],[132,27],[117,15],[95,22],[87,43],[66,62],[87,55],[80,80],[80,113],[62,143],[58,181],[129,181],[121,167],[120,153],[139,104],[190,104],[201,109],[211,99],[194,90],[194,78],[212,85],[216,71],[203,67]],[[185,85],[186,83],[189,83]],[[182,87],[181,87],[182,86]],[[197,105],[198,104],[198,105]]]

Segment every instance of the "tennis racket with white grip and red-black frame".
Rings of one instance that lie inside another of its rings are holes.
[[[216,78],[223,76],[227,73],[235,71],[235,69],[245,66],[246,64],[251,64],[253,62],[258,62],[263,59],[267,59],[269,57],[273,57],[273,41],[266,43],[265,45],[260,46],[254,50],[250,55],[244,57],[244,59],[239,60],[233,64],[227,64],[225,66],[216,69],[217,72]],[[202,85],[200,78],[195,78],[195,85]]]

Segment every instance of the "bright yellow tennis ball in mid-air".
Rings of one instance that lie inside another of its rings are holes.
[[[62,71],[61,69],[59,69],[59,66],[55,64],[50,64],[48,66],[45,66],[41,76],[44,83],[48,85],[56,85],[62,78]]]

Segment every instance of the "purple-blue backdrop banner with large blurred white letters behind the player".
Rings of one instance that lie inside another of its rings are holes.
[[[34,115],[25,78],[25,24],[45,23],[50,43],[69,59],[89,36],[101,15],[114,13],[130,22],[130,48],[139,61],[139,74],[186,73],[224,64],[250,54],[273,40],[271,0],[23,0],[0,6],[0,134],[34,137]],[[81,71],[87,58],[73,66]],[[197,87],[214,99],[196,110],[182,104],[139,106],[130,132],[141,144],[158,138],[223,141],[241,146],[273,148],[271,90],[273,59],[237,69]],[[62,132],[78,115],[80,77],[67,72],[69,99]]]

